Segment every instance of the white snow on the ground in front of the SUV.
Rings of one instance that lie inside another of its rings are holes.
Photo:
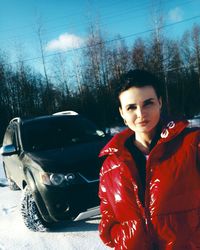
[[[21,191],[11,191],[0,157],[0,250],[106,250],[98,235],[99,217],[61,222],[50,232],[28,230],[19,211]]]

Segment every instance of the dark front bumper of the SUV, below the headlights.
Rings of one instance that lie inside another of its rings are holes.
[[[63,187],[39,184],[35,201],[41,216],[47,222],[95,216],[99,214],[96,207],[100,203],[98,181]]]

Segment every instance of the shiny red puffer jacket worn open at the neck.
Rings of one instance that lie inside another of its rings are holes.
[[[135,161],[124,146],[133,131],[101,151],[99,197],[103,242],[115,249],[200,249],[200,130],[170,122],[146,162],[145,207]]]

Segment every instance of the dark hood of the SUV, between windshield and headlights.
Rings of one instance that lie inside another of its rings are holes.
[[[47,151],[26,152],[45,172],[79,171],[82,168],[97,167],[101,164],[98,154],[108,140],[77,144],[67,148]]]

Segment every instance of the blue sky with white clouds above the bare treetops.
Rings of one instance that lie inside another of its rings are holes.
[[[108,40],[119,34],[127,44],[139,33],[148,36],[156,12],[163,16],[165,34],[174,39],[200,23],[200,0],[0,0],[0,4],[0,49],[13,64],[21,56],[36,70],[39,27],[49,56],[84,46],[89,23],[94,21]]]

